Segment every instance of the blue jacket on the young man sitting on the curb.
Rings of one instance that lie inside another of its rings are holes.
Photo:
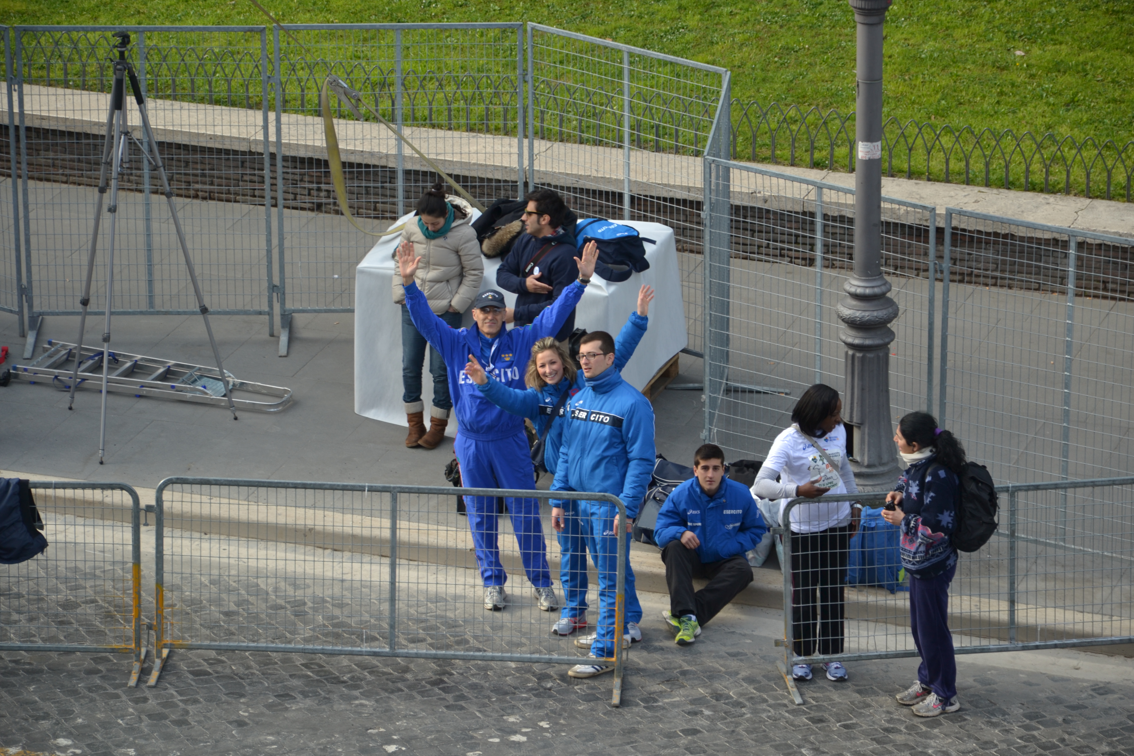
[[[674,489],[658,512],[653,540],[660,549],[679,541],[686,530],[701,541],[701,562],[743,557],[756,547],[768,527],[747,486],[725,478],[710,498],[696,478]]]

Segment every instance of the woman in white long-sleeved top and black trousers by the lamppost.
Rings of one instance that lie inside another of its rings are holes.
[[[804,391],[792,410],[792,427],[776,436],[752,493],[784,500],[857,493],[841,413],[843,400],[831,387],[816,383]],[[852,507],[849,501],[804,503],[792,509],[792,639],[796,656],[811,656],[816,648],[820,654],[843,653],[843,581],[861,511],[862,504]],[[823,669],[828,680],[847,679],[839,662],[823,664]],[[811,664],[796,664],[792,677],[810,680]]]

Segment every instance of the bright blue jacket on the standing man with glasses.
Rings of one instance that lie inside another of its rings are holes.
[[[637,517],[653,473],[653,407],[616,369],[607,368],[567,402],[552,491],[612,493]]]

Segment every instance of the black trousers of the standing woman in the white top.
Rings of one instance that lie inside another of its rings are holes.
[[[843,653],[843,581],[850,526],[792,534],[792,639],[796,656]]]

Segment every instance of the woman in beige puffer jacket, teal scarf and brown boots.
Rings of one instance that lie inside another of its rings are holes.
[[[449,221],[450,210],[452,220]],[[473,304],[484,278],[484,260],[476,231],[469,224],[473,209],[464,199],[446,196],[445,185],[434,184],[417,202],[417,215],[401,231],[401,244],[413,245],[422,258],[414,280],[429,299],[433,312],[451,328],[460,328],[464,312]],[[445,229],[449,223],[448,230]],[[443,232],[442,232],[443,231]],[[431,238],[432,237],[432,238]],[[399,245],[400,246],[400,245]],[[401,275],[393,272],[393,301],[401,305],[401,400],[406,405],[409,435],[407,447],[433,449],[445,439],[452,399],[445,359],[430,347],[429,372],[433,376],[433,407],[425,430],[422,401],[422,367],[425,337],[418,333],[406,308]]]

